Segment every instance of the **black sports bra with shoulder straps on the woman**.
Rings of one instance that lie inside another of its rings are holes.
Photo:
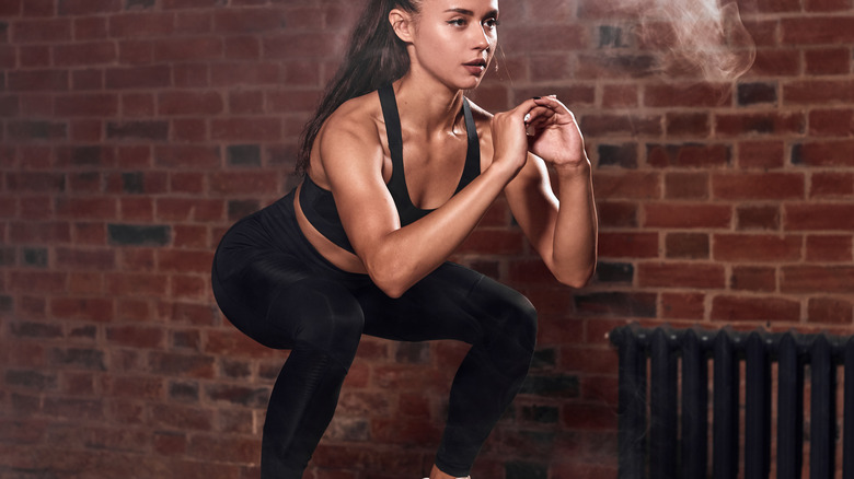
[[[401,136],[401,118],[397,114],[397,101],[394,90],[386,85],[378,90],[382,116],[385,120],[385,133],[389,138],[389,150],[392,159],[392,175],[386,184],[389,192],[397,207],[401,225],[405,226],[427,215],[432,210],[424,210],[413,205],[409,191],[406,188],[406,178],[403,172],[403,138]],[[477,139],[477,128],[474,125],[472,109],[469,101],[463,98],[463,116],[465,117],[465,132],[469,137],[469,149],[465,153],[465,165],[457,186],[454,195],[463,189],[477,175],[481,174],[481,144]],[[341,224],[338,209],[332,197],[332,191],[318,186],[305,175],[300,189],[300,207],[305,218],[323,236],[353,253],[347,234]]]

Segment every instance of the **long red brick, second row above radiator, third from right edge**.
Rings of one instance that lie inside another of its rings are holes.
[[[637,285],[642,288],[724,289],[725,268],[712,262],[641,262]]]

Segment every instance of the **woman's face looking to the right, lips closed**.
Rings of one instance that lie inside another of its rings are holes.
[[[413,67],[452,89],[477,86],[498,43],[498,0],[424,0],[413,32]]]

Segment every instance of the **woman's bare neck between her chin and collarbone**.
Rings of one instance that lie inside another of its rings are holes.
[[[401,121],[417,118],[417,128],[428,136],[460,132],[462,90],[451,90],[436,81],[422,81],[409,72],[394,82],[394,94],[400,110],[415,113],[401,115]]]

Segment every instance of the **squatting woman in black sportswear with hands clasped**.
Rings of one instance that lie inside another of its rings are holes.
[[[463,97],[495,52],[497,3],[370,0],[307,126],[301,185],[238,222],[217,250],[224,315],[291,350],[264,424],[264,478],[302,477],[362,334],[472,344],[430,479],[469,475],[536,331],[524,296],[446,262],[501,192],[561,282],[592,274],[591,168],[573,115],[555,97],[495,116]]]

